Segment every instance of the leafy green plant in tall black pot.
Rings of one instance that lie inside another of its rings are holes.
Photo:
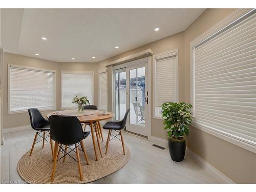
[[[162,117],[165,130],[169,130],[168,145],[170,157],[174,161],[183,161],[186,152],[186,140],[188,126],[192,122],[190,103],[165,102],[162,104]]]

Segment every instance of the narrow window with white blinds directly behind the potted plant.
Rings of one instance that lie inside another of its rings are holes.
[[[177,52],[155,56],[155,117],[162,117],[164,102],[178,102]]]

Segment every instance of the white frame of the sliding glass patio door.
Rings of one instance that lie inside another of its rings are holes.
[[[151,108],[151,87],[152,87],[152,84],[151,84],[151,76],[152,76],[152,56],[149,56],[149,57],[145,57],[145,58],[141,58],[141,59],[137,59],[137,60],[134,60],[134,61],[130,61],[130,62],[126,62],[126,63],[122,63],[120,65],[117,65],[117,66],[114,66],[113,67],[113,90],[112,90],[112,94],[113,94],[113,112],[115,112],[115,90],[114,90],[114,83],[115,83],[115,70],[118,70],[118,72],[121,72],[121,71],[126,71],[126,84],[129,84],[130,82],[130,79],[127,78],[127,77],[130,77],[130,74],[127,74],[127,70],[129,68],[134,66],[134,68],[138,68],[136,67],[135,65],[138,65],[139,63],[143,63],[147,61],[147,66],[145,66],[147,68],[147,82],[146,82],[146,91],[148,92],[148,104],[147,104],[147,111],[146,111],[146,126],[147,126],[147,139],[150,140],[151,139],[151,111],[152,111],[152,108]],[[125,68],[125,69],[124,69]],[[117,72],[117,71],[116,71]],[[130,89],[130,85],[129,86],[126,86],[126,109],[129,107],[130,105],[130,97],[129,97],[129,94],[127,93],[128,91],[128,88]],[[130,119],[130,115],[129,117],[127,117]]]

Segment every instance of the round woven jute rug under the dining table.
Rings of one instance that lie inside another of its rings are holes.
[[[105,142],[100,143],[103,158],[100,157],[98,151],[98,161],[95,161],[92,141],[85,139],[84,145],[89,165],[86,164],[84,155],[79,150],[83,181],[79,179],[77,162],[68,155],[65,162],[63,162],[63,158],[57,161],[54,181],[50,181],[53,166],[50,145],[45,145],[44,148],[41,146],[34,148],[31,157],[29,157],[29,151],[24,154],[17,164],[17,172],[27,183],[89,183],[95,181],[116,172],[130,159],[129,148],[125,147],[125,155],[123,155],[121,141],[111,140],[107,155],[104,154]],[[71,152],[70,155],[76,159],[74,152]]]

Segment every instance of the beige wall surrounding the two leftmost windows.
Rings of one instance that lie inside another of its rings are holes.
[[[61,71],[94,71],[94,104],[98,104],[98,71],[97,63],[76,63],[76,62],[54,62],[33,57],[4,52],[4,86],[3,86],[3,127],[4,129],[17,126],[25,126],[30,124],[28,112],[7,114],[8,111],[8,63],[13,65],[28,66],[41,69],[56,70],[56,98],[60,98],[60,82]],[[60,110],[60,99],[57,99],[57,110]],[[42,115],[46,116],[51,111],[42,111]]]

